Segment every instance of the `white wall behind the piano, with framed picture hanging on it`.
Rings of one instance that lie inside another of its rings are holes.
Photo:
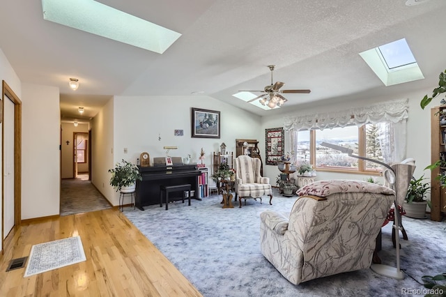
[[[191,137],[191,107],[220,112],[220,139]],[[163,146],[178,146],[170,151],[174,157],[192,155],[197,162],[201,148],[206,153],[203,162],[210,167],[214,151],[226,144],[226,151],[236,153],[236,139],[259,139],[261,118],[208,96],[115,96],[114,98],[114,162],[122,159],[137,162],[146,151],[154,157],[164,157]],[[184,130],[183,136],[175,136],[174,130]],[[161,139],[159,139],[159,137]],[[128,153],[124,153],[124,148]],[[109,186],[109,175],[102,183]],[[107,197],[108,198],[108,197]],[[114,193],[112,204],[118,204]]]

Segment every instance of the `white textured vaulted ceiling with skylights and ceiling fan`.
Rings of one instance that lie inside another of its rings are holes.
[[[41,1],[2,1],[0,48],[22,82],[58,86],[62,119],[89,119],[114,95],[190,96],[202,91],[260,116],[290,107],[433,89],[446,68],[446,1],[102,0],[181,34],[157,54],[43,20]],[[384,86],[359,56],[406,38],[425,79]],[[270,84],[284,107],[265,111],[231,96]],[[68,79],[79,79],[71,91]],[[421,98],[420,98],[421,99]]]

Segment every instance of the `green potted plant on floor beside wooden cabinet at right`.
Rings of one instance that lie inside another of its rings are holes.
[[[428,200],[426,194],[431,190],[429,183],[424,183],[424,175],[418,179],[412,178],[409,183],[406,198],[404,199],[403,208],[409,218],[424,219],[426,218],[426,205]]]

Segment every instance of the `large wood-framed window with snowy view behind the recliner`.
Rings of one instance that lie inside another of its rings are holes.
[[[385,124],[384,124],[385,125]],[[380,172],[381,166],[369,161],[353,158],[332,148],[321,146],[322,142],[351,148],[355,155],[383,162],[380,146],[379,124],[361,127],[348,125],[343,128],[299,131],[296,160],[310,162],[316,169],[348,172]]]

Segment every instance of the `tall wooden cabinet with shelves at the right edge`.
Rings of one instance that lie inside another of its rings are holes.
[[[439,113],[446,112],[446,106],[431,109],[431,163],[446,161],[446,121]],[[431,220],[440,221],[445,212],[446,188],[438,181],[439,174],[446,174],[446,167],[438,167],[431,171]]]

